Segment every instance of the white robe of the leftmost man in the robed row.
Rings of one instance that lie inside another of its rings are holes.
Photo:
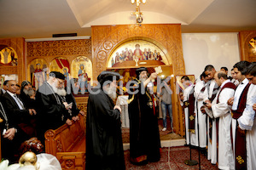
[[[188,88],[184,89],[183,93],[183,102],[189,99],[189,94],[191,93],[192,88],[194,85],[189,86]],[[186,143],[189,144],[189,108],[186,107],[184,109],[185,112],[185,131],[186,131]],[[192,133],[190,133],[192,134]],[[192,141],[191,135],[190,140]]]

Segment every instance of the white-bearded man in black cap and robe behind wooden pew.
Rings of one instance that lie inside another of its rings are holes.
[[[67,110],[71,106],[61,100],[60,94],[66,93],[61,88],[65,76],[61,72],[51,71],[48,81],[38,88],[36,103],[38,111],[38,139],[44,143],[44,133],[48,129],[61,127],[68,118]]]

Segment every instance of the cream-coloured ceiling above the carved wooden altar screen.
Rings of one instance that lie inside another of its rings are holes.
[[[143,24],[181,23],[182,32],[256,31],[256,0],[147,0]],[[90,36],[90,26],[135,24],[130,0],[0,0],[0,38]]]

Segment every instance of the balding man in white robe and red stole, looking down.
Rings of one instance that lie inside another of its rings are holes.
[[[207,103],[207,108],[212,109],[217,124],[218,168],[234,169],[235,161],[230,136],[232,116],[231,107],[227,104],[227,101],[234,96],[236,85],[230,82],[224,71],[216,72],[214,80],[220,88],[212,103]]]

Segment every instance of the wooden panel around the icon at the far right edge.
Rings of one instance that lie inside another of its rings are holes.
[[[240,31],[239,32],[241,60],[247,60],[249,62],[256,61],[256,56],[255,57],[249,56],[248,44],[253,37],[256,37],[256,31]]]

